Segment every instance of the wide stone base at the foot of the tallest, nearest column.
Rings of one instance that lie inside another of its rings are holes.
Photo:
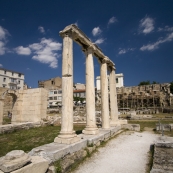
[[[54,142],[58,144],[73,144],[80,141],[80,139],[81,138],[77,135],[74,136],[73,138],[61,138],[58,136],[54,139]]]

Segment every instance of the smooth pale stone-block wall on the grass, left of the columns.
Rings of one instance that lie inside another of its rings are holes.
[[[47,95],[44,88],[19,90],[12,111],[12,123],[38,122],[46,118]]]

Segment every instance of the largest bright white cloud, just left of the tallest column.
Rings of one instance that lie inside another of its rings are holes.
[[[44,64],[49,64],[51,68],[58,66],[57,58],[60,56],[57,51],[61,50],[62,44],[52,39],[42,38],[40,43],[29,45],[35,54],[32,59]]]

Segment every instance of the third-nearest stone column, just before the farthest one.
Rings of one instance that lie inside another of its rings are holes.
[[[102,128],[109,129],[109,102],[108,102],[108,78],[107,78],[107,59],[104,58],[101,62],[101,114]]]

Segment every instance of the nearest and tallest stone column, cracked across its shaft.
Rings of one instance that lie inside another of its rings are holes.
[[[73,40],[72,32],[63,37],[61,131],[54,142],[71,144],[80,140],[73,130]]]

